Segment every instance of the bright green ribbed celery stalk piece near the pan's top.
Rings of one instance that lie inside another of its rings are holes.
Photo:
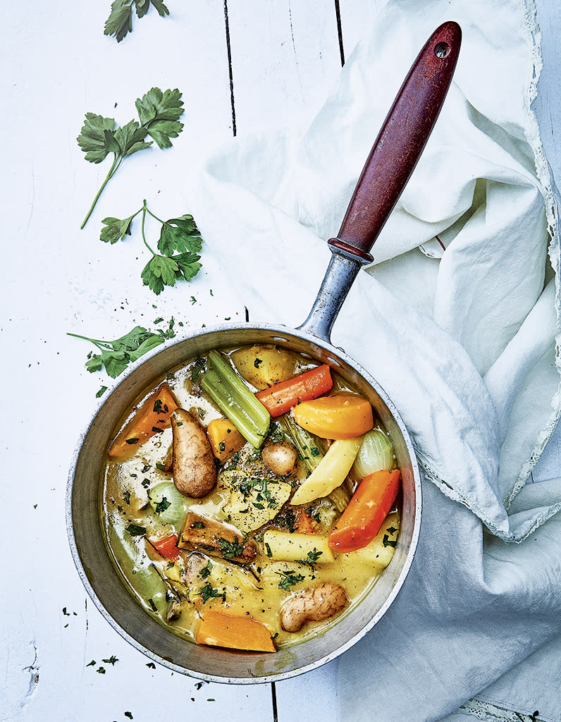
[[[241,435],[259,448],[269,433],[271,414],[217,351],[210,351],[201,386]]]

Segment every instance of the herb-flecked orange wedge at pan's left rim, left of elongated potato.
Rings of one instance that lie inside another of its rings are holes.
[[[171,425],[170,416],[178,409],[178,402],[167,383],[151,393],[144,404],[134,414],[129,423],[118,433],[110,446],[111,458],[131,456],[150,437]]]

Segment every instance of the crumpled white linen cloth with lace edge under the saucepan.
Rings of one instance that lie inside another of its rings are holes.
[[[424,475],[414,565],[339,660],[340,718],[432,721],[480,693],[451,720],[496,719],[483,702],[559,720],[559,687],[542,692],[560,646],[561,480],[528,482],[560,413],[559,239],[530,109],[531,1],[390,2],[310,128],[235,139],[188,204],[251,321],[296,326],[393,97],[448,19],[463,30],[454,83],[332,333],[395,402]]]

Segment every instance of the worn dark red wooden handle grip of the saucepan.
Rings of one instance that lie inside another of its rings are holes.
[[[435,125],[448,92],[461,44],[456,22],[432,33],[414,61],[375,140],[336,238],[334,251],[372,261],[382,230]]]

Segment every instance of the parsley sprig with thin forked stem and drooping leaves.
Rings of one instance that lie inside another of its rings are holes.
[[[123,240],[126,235],[131,235],[131,223],[139,213],[142,213],[142,240],[152,253],[152,258],[142,270],[141,277],[144,285],[159,295],[165,286],[174,286],[178,279],[191,281],[201,268],[201,264],[199,264],[201,256],[198,254],[201,250],[202,239],[193,216],[189,214],[162,221],[152,213],[146,201],[143,201],[142,208],[128,218],[123,220],[113,216],[104,218],[100,240],[113,244],[118,240]],[[144,229],[146,214],[162,224],[160,238],[157,241],[157,249],[161,253],[156,253],[147,243]]]

